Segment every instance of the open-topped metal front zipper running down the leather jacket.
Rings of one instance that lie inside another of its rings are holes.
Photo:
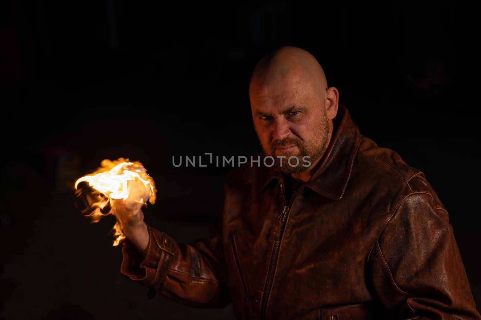
[[[269,271],[267,271],[267,280],[266,280],[266,285],[264,287],[264,294],[262,296],[261,319],[266,319],[267,300],[269,299],[269,294],[272,288],[274,271],[276,269],[276,264],[277,264],[278,255],[279,255],[280,239],[282,238],[282,234],[284,233],[284,228],[286,226],[286,219],[287,219],[287,216],[289,215],[289,210],[291,209],[292,203],[294,202],[294,199],[298,191],[301,189],[302,189],[302,186],[301,188],[294,191],[289,201],[289,204],[287,206],[284,206],[284,208],[282,209],[282,212],[277,218],[278,222],[280,222],[279,235],[276,241],[274,242],[274,248],[272,249],[272,258],[269,263]],[[286,204],[287,199],[286,199],[286,194],[284,193],[284,185],[282,185],[282,183],[280,183],[280,191],[281,191],[282,197],[284,197],[284,204]]]

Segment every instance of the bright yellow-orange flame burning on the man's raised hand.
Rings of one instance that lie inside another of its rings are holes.
[[[128,208],[132,203],[146,204],[147,200],[153,204],[157,193],[155,183],[142,163],[130,162],[124,158],[102,160],[101,167],[95,172],[79,178],[75,182],[77,196],[82,194],[78,189],[81,182],[86,182],[91,187],[90,193],[84,195],[88,199],[88,208],[82,212],[90,212],[87,216],[92,222],[98,222],[102,216],[113,213],[113,199],[123,199]],[[110,209],[103,213],[108,209],[107,205],[110,205]],[[114,246],[118,246],[125,239],[118,220],[112,231],[115,238]]]

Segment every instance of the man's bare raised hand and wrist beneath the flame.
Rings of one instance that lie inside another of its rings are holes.
[[[144,222],[144,214],[141,208],[142,205],[139,203],[127,206],[123,199],[114,199],[112,211],[128,240],[145,257],[149,246],[149,232]]]

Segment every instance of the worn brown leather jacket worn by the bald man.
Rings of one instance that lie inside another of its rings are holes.
[[[337,119],[289,203],[282,174],[248,163],[228,174],[211,238],[179,244],[148,226],[146,258],[125,241],[122,274],[185,305],[232,302],[239,319],[481,319],[424,174],[342,106]]]

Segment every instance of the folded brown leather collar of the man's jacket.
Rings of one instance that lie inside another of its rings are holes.
[[[339,200],[344,195],[354,157],[360,143],[359,128],[349,116],[347,109],[340,105],[337,117],[339,124],[334,127],[329,146],[315,168],[311,179],[304,185],[317,193],[333,200]],[[270,168],[265,172],[265,184],[262,191],[273,179],[283,180],[283,174],[278,169]]]

